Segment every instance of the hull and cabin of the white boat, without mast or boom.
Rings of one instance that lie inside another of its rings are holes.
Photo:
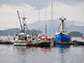
[[[30,36],[28,36],[26,33],[19,33],[18,36],[14,36],[15,40],[14,40],[14,45],[28,45],[28,43],[31,41],[30,40]]]

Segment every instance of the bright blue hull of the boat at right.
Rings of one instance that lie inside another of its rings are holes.
[[[71,37],[66,34],[57,34],[55,35],[57,42],[71,42]]]

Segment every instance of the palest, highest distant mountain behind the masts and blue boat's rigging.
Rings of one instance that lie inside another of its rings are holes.
[[[61,21],[59,19],[53,20],[53,35],[55,34],[57,28],[59,27],[60,22]],[[28,28],[29,29],[35,28],[38,30],[38,27],[40,27],[40,30],[45,34],[45,24],[46,23],[47,23],[47,35],[50,36],[51,35],[51,23],[52,23],[51,20],[48,20],[48,21],[40,20],[34,23],[30,23],[28,24]],[[65,24],[68,27],[70,25],[74,25],[75,21],[66,21]]]

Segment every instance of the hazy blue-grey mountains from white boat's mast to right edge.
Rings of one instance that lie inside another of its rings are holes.
[[[60,25],[60,20],[59,19],[55,19],[53,20],[53,35],[56,33],[57,28]],[[48,21],[36,21],[34,23],[30,23],[28,24],[28,28],[29,29],[38,29],[38,27],[40,27],[40,30],[45,33],[45,23],[47,23],[47,35],[50,36],[51,35],[51,20]],[[66,27],[67,27],[67,31],[68,32],[72,32],[72,31],[77,31],[80,33],[83,33],[84,35],[84,26],[78,26],[78,25],[74,25],[76,24],[75,21],[65,21]]]

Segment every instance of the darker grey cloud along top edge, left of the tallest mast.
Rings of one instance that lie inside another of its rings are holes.
[[[17,6],[22,6],[23,4],[31,5],[32,7],[36,7],[36,9],[42,9],[43,7],[47,7],[49,4],[48,0],[2,0],[0,4],[12,4]]]

